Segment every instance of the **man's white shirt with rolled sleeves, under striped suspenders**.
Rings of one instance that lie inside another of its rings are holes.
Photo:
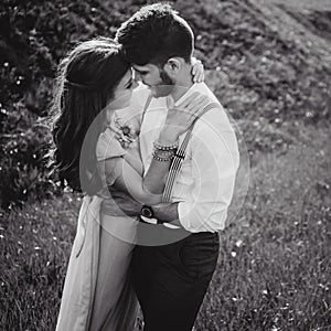
[[[147,92],[146,87],[138,87],[131,107],[142,109]],[[195,83],[174,105],[194,92],[209,96],[211,103],[217,103],[220,107],[209,110],[195,122],[171,202],[179,202],[179,221],[186,231],[216,232],[225,227],[239,153],[227,115],[204,83]],[[167,118],[167,103],[169,105],[169,97],[168,102],[166,97],[152,98],[141,122],[139,145],[145,174],[152,160],[153,141]],[[180,143],[184,135],[180,137]]]

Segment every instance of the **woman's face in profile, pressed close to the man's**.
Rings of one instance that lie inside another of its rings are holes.
[[[137,86],[138,84],[134,79],[132,70],[129,68],[115,88],[114,98],[110,100],[109,106],[113,109],[128,107],[130,105],[132,90]]]

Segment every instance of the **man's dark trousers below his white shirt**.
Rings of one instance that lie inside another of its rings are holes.
[[[217,233],[163,246],[136,246],[132,276],[145,331],[192,329],[218,257]]]

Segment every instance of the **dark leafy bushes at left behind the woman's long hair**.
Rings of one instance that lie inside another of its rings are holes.
[[[4,0],[0,4],[0,205],[58,191],[50,179],[51,137],[42,125],[58,60],[81,40],[110,35],[125,3]],[[111,22],[111,24],[109,24]]]

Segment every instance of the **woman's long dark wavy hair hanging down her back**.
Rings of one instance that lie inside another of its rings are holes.
[[[119,45],[105,38],[82,42],[60,63],[51,113],[51,164],[60,180],[75,191],[96,193],[90,180],[96,174],[96,143],[105,125],[105,117],[98,115],[129,67]]]

